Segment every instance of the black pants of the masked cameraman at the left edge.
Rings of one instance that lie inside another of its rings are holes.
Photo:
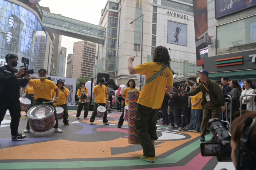
[[[11,134],[16,136],[20,124],[20,100],[0,100],[0,126],[7,109],[9,109],[11,116]]]

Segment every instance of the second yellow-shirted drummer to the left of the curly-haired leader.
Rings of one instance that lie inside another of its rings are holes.
[[[106,103],[108,103],[108,90],[107,87],[103,84],[104,83],[104,79],[100,78],[99,79],[99,85],[95,86],[93,91],[92,91],[92,97],[94,99],[94,109],[92,112],[92,116],[90,118],[90,125],[92,125],[92,123],[94,122],[94,119],[96,117],[97,114],[97,108],[99,106],[104,106],[106,108],[106,112],[105,115],[103,117],[103,124],[104,125],[108,125],[108,111],[107,111],[107,105]]]

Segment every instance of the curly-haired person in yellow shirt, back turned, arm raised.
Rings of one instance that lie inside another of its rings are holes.
[[[128,59],[130,74],[144,74],[145,84],[138,98],[135,112],[135,127],[138,139],[143,149],[140,159],[155,161],[156,121],[159,108],[164,100],[164,93],[172,92],[172,71],[170,70],[170,55],[166,47],[158,46],[154,51],[152,62],[133,67],[135,57]],[[167,86],[167,88],[166,88]]]

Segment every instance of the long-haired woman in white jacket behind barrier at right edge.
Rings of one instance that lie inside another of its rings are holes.
[[[247,79],[244,80],[244,88],[245,90],[242,91],[239,101],[241,100],[242,96],[255,94],[255,88],[252,86],[252,81]],[[249,110],[249,111],[256,111],[255,103],[254,103],[255,96],[245,96],[242,98],[242,108],[240,110]]]

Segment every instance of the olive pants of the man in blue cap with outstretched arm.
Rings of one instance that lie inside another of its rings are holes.
[[[218,118],[218,119],[220,118],[220,109],[221,109],[221,106],[214,107],[214,106],[204,105],[203,120],[202,120],[202,123],[201,123],[201,130],[200,130],[201,135],[206,134],[207,123],[210,119],[210,114],[211,113],[212,113],[212,118]]]

